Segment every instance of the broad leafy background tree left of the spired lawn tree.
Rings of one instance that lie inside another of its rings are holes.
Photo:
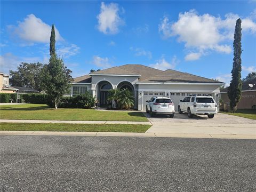
[[[43,64],[42,63],[26,63],[22,62],[18,67],[17,71],[10,70],[10,84],[12,86],[25,86],[32,89],[41,91],[41,73]]]

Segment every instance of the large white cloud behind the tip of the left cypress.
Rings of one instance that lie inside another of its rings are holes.
[[[18,26],[8,26],[8,28],[15,36],[28,42],[28,45],[50,42],[51,26],[37,18],[34,14],[29,14],[23,21],[18,21]],[[55,39],[56,41],[62,40],[56,27]]]

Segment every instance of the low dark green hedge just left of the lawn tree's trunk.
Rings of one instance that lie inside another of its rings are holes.
[[[49,104],[49,98],[47,94],[38,94],[38,93],[29,93],[21,94],[22,99],[25,103],[34,103],[34,104]]]

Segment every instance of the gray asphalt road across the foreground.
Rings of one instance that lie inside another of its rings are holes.
[[[0,191],[256,191],[256,140],[0,138]]]

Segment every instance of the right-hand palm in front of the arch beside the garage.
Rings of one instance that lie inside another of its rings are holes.
[[[130,108],[134,106],[134,97],[129,89],[122,89],[119,96],[119,105],[122,109],[124,108],[130,110]]]

